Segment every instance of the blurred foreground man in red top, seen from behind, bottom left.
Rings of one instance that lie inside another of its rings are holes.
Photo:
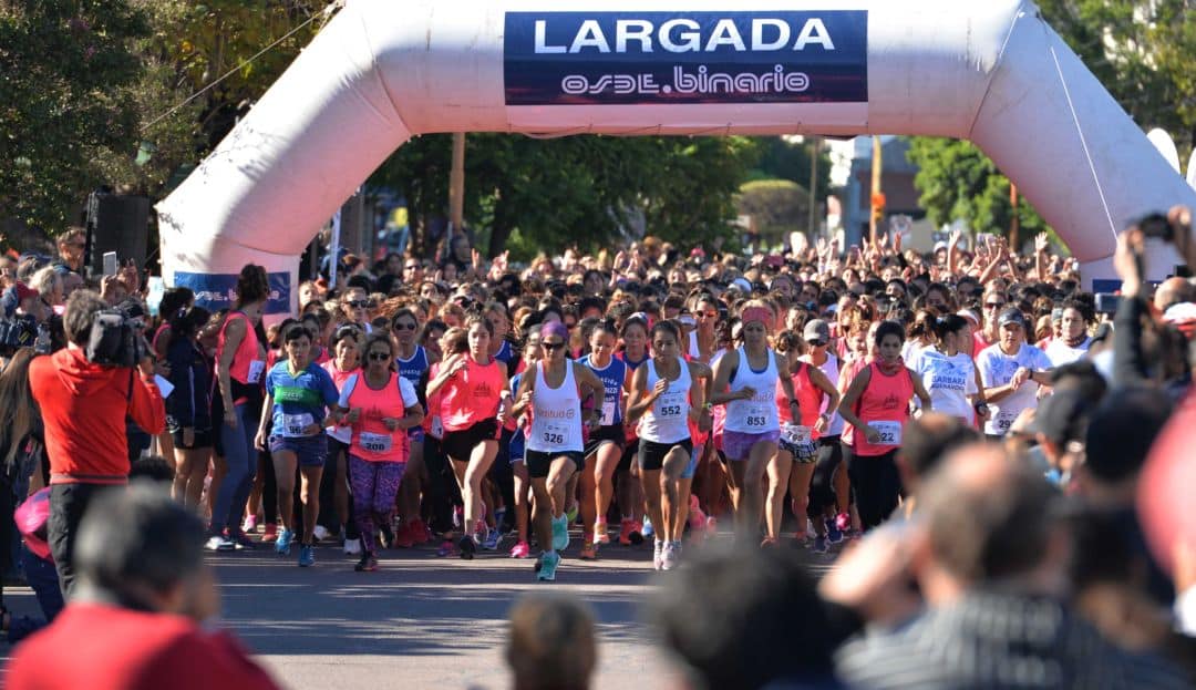
[[[79,531],[75,597],[17,647],[10,690],[276,690],[231,635],[199,622],[219,599],[203,524],[134,482],[93,501]]]

